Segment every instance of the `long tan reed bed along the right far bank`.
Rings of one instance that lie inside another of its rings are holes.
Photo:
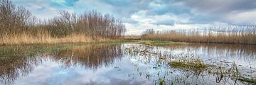
[[[256,45],[256,26],[218,27],[215,29],[229,29],[226,31],[193,30],[186,32],[168,31],[156,33],[152,29],[144,31],[142,40],[170,40],[178,42],[210,42],[210,43],[235,43]]]

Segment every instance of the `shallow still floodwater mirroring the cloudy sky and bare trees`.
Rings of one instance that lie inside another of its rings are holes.
[[[0,47],[0,84],[251,84],[231,73],[218,74],[233,67],[242,78],[256,78],[254,45],[124,43],[33,53],[26,52],[27,47]],[[211,69],[196,71],[168,64],[181,57],[201,58]]]

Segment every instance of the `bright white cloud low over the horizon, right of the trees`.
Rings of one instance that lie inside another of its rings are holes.
[[[126,35],[141,35],[142,32],[148,28],[154,30],[175,30],[175,29],[188,29],[188,28],[202,28],[203,24],[183,24],[188,23],[189,18],[175,16],[171,13],[164,15],[147,15],[148,11],[142,10],[134,13],[131,18],[139,23],[125,23],[128,28]]]

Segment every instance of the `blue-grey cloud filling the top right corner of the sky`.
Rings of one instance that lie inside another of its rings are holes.
[[[176,0],[177,1],[177,0]],[[255,0],[183,0],[186,6],[208,13],[250,11],[256,8]]]

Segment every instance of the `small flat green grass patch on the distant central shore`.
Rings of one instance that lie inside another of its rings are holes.
[[[171,45],[171,44],[174,44],[174,43],[179,43],[179,42],[159,41],[159,40],[139,41],[139,44],[144,44],[144,45]]]

